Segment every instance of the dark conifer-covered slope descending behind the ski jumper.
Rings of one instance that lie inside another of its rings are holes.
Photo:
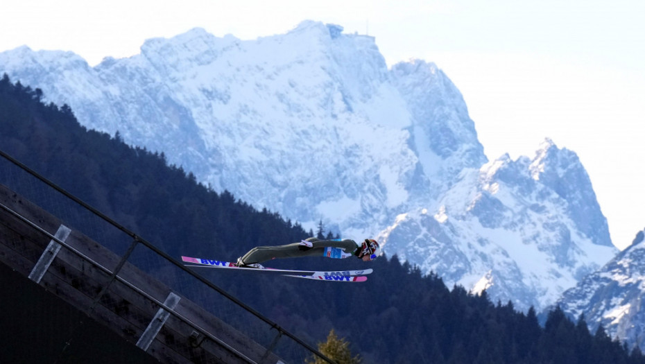
[[[322,226],[306,232],[213,191],[181,166],[169,166],[163,153],[87,130],[69,106],[43,98],[40,89],[1,78],[0,150],[173,257],[236,259],[255,245],[329,234]],[[312,344],[333,329],[363,363],[645,363],[638,348],[612,340],[602,327],[590,332],[584,318],[571,321],[554,309],[542,325],[533,309],[521,313],[485,293],[446,287],[440,272],[424,276],[397,257],[293,260],[280,263],[375,272],[364,284],[230,275],[216,284]]]

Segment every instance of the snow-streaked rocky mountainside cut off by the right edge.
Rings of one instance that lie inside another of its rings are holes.
[[[638,232],[632,245],[556,302],[571,319],[584,314],[592,332],[602,325],[630,347],[645,346],[644,236]]]

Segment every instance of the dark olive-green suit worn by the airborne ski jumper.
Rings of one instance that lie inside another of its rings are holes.
[[[303,243],[291,243],[278,246],[259,246],[251,249],[242,257],[244,264],[263,263],[277,258],[298,258],[298,257],[332,257],[333,248],[340,248],[344,250],[343,255],[356,255],[359,245],[352,239],[345,240],[321,240],[317,238],[309,238],[308,241],[313,245],[313,248],[305,246]],[[329,253],[329,254],[327,254]],[[341,257],[334,257],[341,258]]]

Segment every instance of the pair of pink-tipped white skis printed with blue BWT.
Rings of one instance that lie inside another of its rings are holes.
[[[331,271],[316,271],[316,270],[292,270],[292,269],[275,269],[275,268],[243,268],[238,267],[231,261],[217,261],[212,259],[191,258],[183,257],[184,266],[200,267],[200,268],[225,268],[248,270],[251,272],[266,272],[286,277],[304,278],[304,279],[318,279],[323,281],[347,281],[347,282],[363,282],[367,281],[368,275],[372,272],[371,268],[363,270],[331,270]]]

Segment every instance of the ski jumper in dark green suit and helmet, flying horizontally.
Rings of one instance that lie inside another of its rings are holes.
[[[358,244],[352,239],[322,240],[309,238],[299,243],[277,246],[259,246],[237,259],[236,266],[246,268],[262,268],[260,263],[271,259],[298,257],[356,257],[363,261],[372,261],[380,254],[379,243],[374,239],[365,239]]]

